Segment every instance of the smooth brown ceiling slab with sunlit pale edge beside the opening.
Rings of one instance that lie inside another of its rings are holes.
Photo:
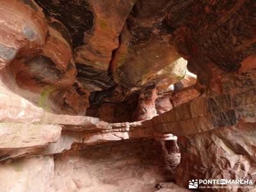
[[[131,23],[133,22],[140,23],[139,19],[132,20]],[[153,19],[134,31],[129,31],[125,26],[122,31],[121,45],[111,67],[115,82],[125,88],[159,83],[159,89],[164,90],[182,79],[186,73],[186,61],[180,58],[169,43],[170,36],[166,35],[159,41],[157,34],[154,34],[152,22],[156,21]],[[131,68],[130,65],[134,67]]]

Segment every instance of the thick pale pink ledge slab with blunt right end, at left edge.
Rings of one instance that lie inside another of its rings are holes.
[[[0,132],[0,161],[3,161],[11,157],[35,154],[38,149],[58,141],[61,127],[57,125],[1,123]]]

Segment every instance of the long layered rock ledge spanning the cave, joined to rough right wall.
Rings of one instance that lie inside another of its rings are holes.
[[[157,145],[161,150],[159,154],[165,154],[162,164],[166,168],[166,162],[175,166],[179,164],[173,158],[179,157],[179,152],[170,150],[174,154],[171,155],[172,159],[168,159],[166,155],[170,151],[163,148],[177,139],[174,134],[178,136],[181,159],[177,171],[169,168],[169,173],[172,173],[169,179],[173,179],[175,173],[175,180],[180,186],[186,188],[188,180],[195,178],[252,179],[255,182],[255,76],[255,70],[225,74],[218,85],[221,93],[208,90],[200,97],[151,120],[117,124],[101,122],[99,118],[47,113],[1,86],[1,162],[26,163],[27,159],[28,162],[36,161],[33,160],[35,155],[39,159],[47,159],[53,154],[60,154],[55,155],[57,160],[54,163],[58,163],[58,158],[62,156],[65,159],[69,158],[67,154],[83,153],[83,145],[98,145],[100,150],[109,142],[152,138],[164,142],[162,147],[160,143]],[[91,148],[88,153],[94,151]],[[16,160],[17,157],[23,159]]]

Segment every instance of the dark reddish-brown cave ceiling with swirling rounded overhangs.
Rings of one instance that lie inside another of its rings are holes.
[[[1,39],[1,62],[24,90],[51,92],[61,113],[136,106],[148,86],[168,92],[187,68],[202,92],[214,76],[209,66],[236,72],[256,51],[253,0],[22,0],[20,7],[13,17],[26,40],[18,32],[13,42]]]

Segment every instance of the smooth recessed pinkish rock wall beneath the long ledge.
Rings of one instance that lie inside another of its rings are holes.
[[[74,148],[4,161],[1,191],[155,191],[168,178],[161,145],[153,140]]]

